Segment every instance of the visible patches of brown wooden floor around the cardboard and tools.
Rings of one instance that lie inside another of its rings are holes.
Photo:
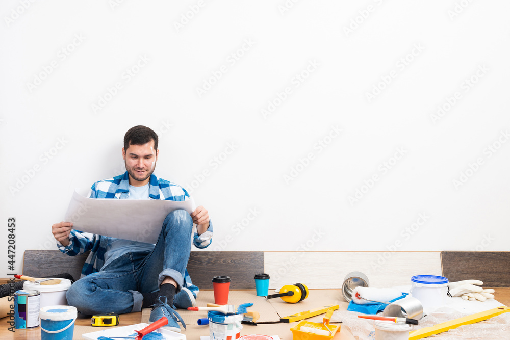
[[[510,288],[495,288],[496,300],[506,306],[510,306]],[[133,325],[141,322],[142,313],[123,314],[120,317],[120,326]],[[39,340],[41,338],[41,330],[39,328],[21,330],[16,329],[15,333],[7,330],[9,318],[0,319],[0,339],[27,339]],[[90,318],[77,319],[75,325],[90,326]],[[99,328],[98,328],[99,329]],[[438,336],[438,338],[441,338]],[[194,340],[194,339],[189,339]]]

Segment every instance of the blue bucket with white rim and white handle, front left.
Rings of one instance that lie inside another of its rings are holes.
[[[46,306],[39,311],[41,340],[72,340],[78,311],[73,306]]]

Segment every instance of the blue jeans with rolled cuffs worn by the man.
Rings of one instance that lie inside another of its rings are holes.
[[[141,293],[158,291],[165,276],[177,282],[179,292],[185,285],[192,228],[193,221],[186,211],[171,212],[150,253],[126,253],[100,272],[74,282],[66,293],[68,304],[87,315],[141,311]]]

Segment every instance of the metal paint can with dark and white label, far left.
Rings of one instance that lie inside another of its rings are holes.
[[[39,327],[41,292],[21,290],[14,292],[14,328]]]

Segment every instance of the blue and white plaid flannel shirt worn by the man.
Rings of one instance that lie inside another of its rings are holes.
[[[129,196],[129,175],[127,171],[123,175],[100,180],[92,185],[90,198],[120,198]],[[150,175],[149,199],[166,199],[172,201],[185,201],[190,199],[188,192],[180,186],[164,179]],[[213,237],[213,224],[209,221],[209,228],[200,236],[197,232],[193,234],[193,244],[197,248],[206,248],[211,244]],[[81,277],[98,272],[105,264],[105,251],[108,245],[107,236],[71,230],[69,244],[63,246],[57,241],[57,247],[64,254],[75,256],[90,250],[89,256],[82,268]],[[193,285],[188,271],[185,273],[185,287],[192,292],[198,293],[198,287]]]

